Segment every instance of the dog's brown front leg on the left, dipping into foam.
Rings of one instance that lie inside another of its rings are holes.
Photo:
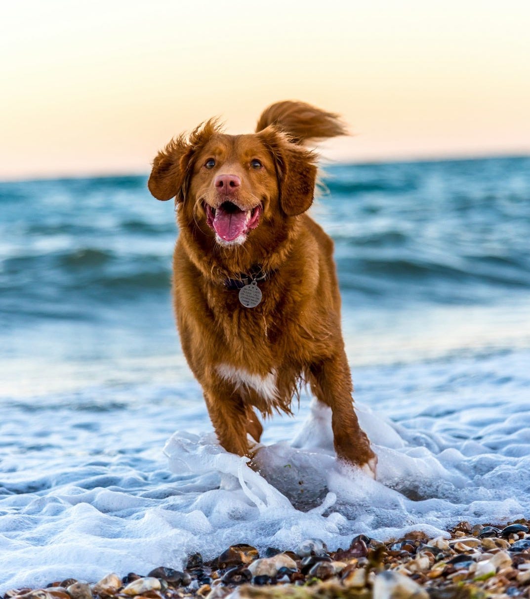
[[[237,455],[249,455],[248,409],[230,385],[224,382],[205,389],[204,399],[221,446]]]

